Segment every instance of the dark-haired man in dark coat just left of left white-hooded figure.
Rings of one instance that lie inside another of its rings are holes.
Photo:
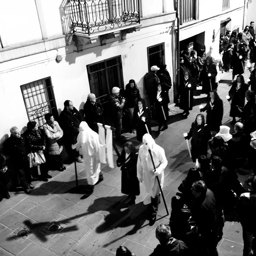
[[[83,160],[81,160],[79,152],[72,150],[71,146],[76,143],[81,121],[82,117],[79,111],[74,107],[73,102],[66,100],[64,102],[64,109],[59,116],[59,122],[64,132],[63,140],[67,154],[70,160],[73,160],[75,157],[76,162],[79,163],[82,163]]]

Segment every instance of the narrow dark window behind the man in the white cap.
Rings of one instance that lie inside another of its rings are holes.
[[[148,47],[148,71],[152,66],[160,67],[165,64],[164,43]]]

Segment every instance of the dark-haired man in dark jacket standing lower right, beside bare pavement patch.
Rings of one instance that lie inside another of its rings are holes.
[[[192,218],[198,224],[201,235],[200,250],[204,256],[217,256],[217,230],[216,230],[216,204],[213,192],[207,189],[202,180],[195,181],[192,185],[194,195],[191,207]]]

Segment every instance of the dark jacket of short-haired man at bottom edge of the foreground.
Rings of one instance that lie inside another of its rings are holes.
[[[158,244],[150,256],[189,256],[189,249],[183,241],[173,239],[167,245]]]

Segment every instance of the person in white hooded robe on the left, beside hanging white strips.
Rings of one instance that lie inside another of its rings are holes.
[[[84,167],[88,183],[85,192],[87,195],[91,195],[94,185],[103,180],[103,175],[100,171],[99,147],[99,135],[87,125],[87,122],[81,122],[79,125],[77,143],[72,145],[72,148],[76,148],[77,151],[81,148],[83,152]]]

